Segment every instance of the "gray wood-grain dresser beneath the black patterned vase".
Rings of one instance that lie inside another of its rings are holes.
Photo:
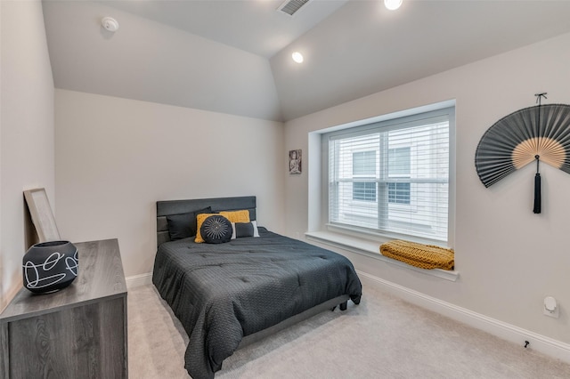
[[[53,294],[22,288],[0,315],[0,378],[126,378],[126,283],[118,240],[74,243],[79,269]]]

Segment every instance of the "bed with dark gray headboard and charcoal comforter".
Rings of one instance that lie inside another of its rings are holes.
[[[234,235],[252,224],[255,237],[196,243],[194,230],[176,229],[200,213],[244,210],[249,223],[233,224]],[[158,201],[157,245],[152,282],[188,334],[184,367],[193,379],[213,378],[241,347],[361,300],[346,257],[256,226],[256,197]]]

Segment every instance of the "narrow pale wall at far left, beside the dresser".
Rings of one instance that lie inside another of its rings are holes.
[[[21,288],[27,207],[44,187],[54,207],[53,78],[39,1],[0,2],[0,310]]]

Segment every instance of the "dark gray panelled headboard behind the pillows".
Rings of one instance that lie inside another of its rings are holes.
[[[249,219],[256,220],[255,196],[157,201],[157,246],[170,240],[167,215],[187,214],[207,206],[212,207],[212,212],[240,211],[241,209],[247,209],[249,211]]]

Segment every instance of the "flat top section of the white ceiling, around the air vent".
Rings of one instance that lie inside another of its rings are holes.
[[[293,17],[283,0],[105,1],[105,4],[265,58],[303,35],[348,0],[312,0]]]

